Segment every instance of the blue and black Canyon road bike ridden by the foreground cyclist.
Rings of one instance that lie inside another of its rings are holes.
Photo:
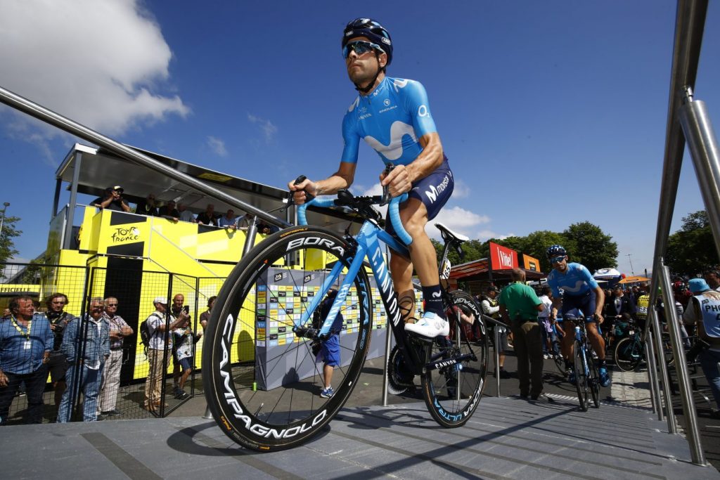
[[[398,212],[406,196],[390,201],[395,235],[380,227],[382,215],[375,208],[386,196],[340,191],[337,198],[312,199],[297,209],[299,226],[266,237],[230,273],[207,325],[202,366],[208,407],[235,442],[254,450],[281,450],[320,433],[358,383],[372,330],[384,327],[374,326],[373,307],[376,315],[384,310],[397,345],[387,359],[391,384],[409,386],[419,378],[428,411],[444,427],[464,425],[477,408],[488,349],[480,307],[472,296],[442,290],[451,330],[447,338],[405,333],[380,242],[409,258],[412,239]],[[356,235],[348,227],[343,236],[307,226],[309,205],[344,207],[363,223]],[[445,241],[442,273],[449,273],[449,248],[459,250],[467,238],[436,226]],[[336,298],[320,329],[313,329],[313,314],[330,288],[338,290]],[[323,398],[323,364],[315,363],[311,345],[333,333],[338,312],[346,319],[339,335],[341,365],[333,371],[334,394]],[[479,325],[480,338],[467,338],[463,322]]]

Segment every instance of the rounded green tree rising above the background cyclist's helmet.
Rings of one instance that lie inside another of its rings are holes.
[[[618,266],[618,244],[597,225],[590,222],[574,223],[562,235],[567,239],[567,245],[563,246],[568,251],[570,261],[582,263],[590,273],[599,268]]]

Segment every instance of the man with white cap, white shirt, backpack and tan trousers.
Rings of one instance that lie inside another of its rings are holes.
[[[143,408],[148,412],[154,412],[162,405],[161,388],[163,372],[168,369],[170,358],[171,336],[168,336],[166,345],[166,332],[177,327],[181,320],[169,323],[166,320],[168,312],[168,299],[164,296],[157,296],[153,300],[155,312],[148,317],[148,330],[150,331],[150,345],[148,345],[148,378],[145,379],[145,404]],[[168,325],[169,323],[169,325]]]

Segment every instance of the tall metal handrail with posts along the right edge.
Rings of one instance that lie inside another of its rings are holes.
[[[692,462],[696,465],[706,465],[703,455],[698,425],[696,421],[695,404],[690,395],[690,382],[687,369],[685,368],[685,353],[680,343],[678,332],[678,317],[675,312],[675,299],[672,296],[670,284],[670,273],[665,266],[663,258],[667,251],[667,242],[670,237],[670,224],[672,214],[675,210],[675,199],[678,194],[678,183],[680,181],[680,168],[683,162],[683,150],[685,149],[685,138],[690,142],[690,151],[693,155],[693,163],[696,166],[696,173],[700,180],[703,200],[709,212],[715,212],[710,216],[716,246],[720,252],[720,224],[718,223],[717,212],[720,211],[720,195],[717,193],[717,186],[720,184],[720,169],[717,164],[717,148],[709,126],[706,114],[702,112],[701,102],[693,101],[692,90],[695,86],[698,63],[700,59],[703,30],[705,27],[706,13],[708,9],[707,0],[678,0],[678,11],[675,20],[675,45],[672,53],[672,73],[670,76],[670,99],[668,102],[667,127],[665,132],[665,155],[662,168],[662,183],[660,186],[660,204],[657,214],[657,232],[655,234],[655,250],[653,262],[653,275],[650,286],[650,303],[652,307],[657,304],[658,287],[662,282],[662,297],[665,302],[665,317],[670,330],[672,340],[672,354],[675,358],[676,371],[678,372],[678,384],[680,397],[683,402],[683,413],[687,419],[687,439],[690,445]],[[652,348],[652,338],[649,338],[649,329],[654,323],[653,330],[658,329],[658,322],[647,322],[643,332],[643,338]],[[655,332],[655,338],[659,338],[660,332]],[[660,363],[660,376],[651,372],[649,378],[654,381],[651,391],[653,392],[653,404],[662,409],[662,400],[658,397],[659,389],[657,383],[662,380],[665,384],[665,407],[668,413],[668,428],[672,433],[674,415],[672,413],[672,402],[670,391],[667,388],[667,372],[663,371],[665,360],[662,357],[662,342],[656,343],[655,355],[657,363]],[[649,365],[649,368],[651,366]],[[662,412],[660,412],[662,415]]]

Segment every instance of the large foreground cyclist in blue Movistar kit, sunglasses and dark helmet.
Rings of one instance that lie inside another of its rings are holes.
[[[349,22],[343,30],[341,47],[348,77],[359,96],[343,118],[340,166],[328,178],[305,179],[297,185],[291,181],[288,187],[296,204],[305,203],[306,194],[328,195],[347,189],[354,180],[361,139],[377,151],[386,166],[394,166],[390,173],[383,171],[380,183],[389,188],[393,197],[405,192],[409,195],[400,205],[400,219],[413,238],[410,259],[395,253],[390,258],[395,293],[407,322],[405,330],[429,338],[448,335],[435,248],[425,225],[449,199],[454,180],[430,114],[425,88],[418,81],[385,75],[392,62],[392,39],[373,19]],[[426,302],[423,317],[414,323],[413,266]]]

